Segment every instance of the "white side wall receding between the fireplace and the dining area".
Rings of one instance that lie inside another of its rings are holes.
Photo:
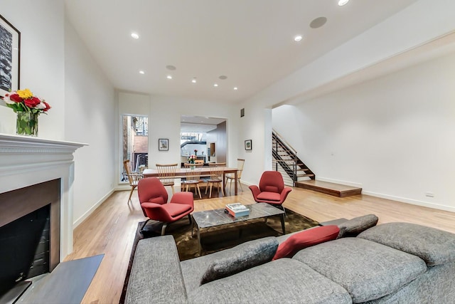
[[[75,226],[114,189],[116,113],[114,88],[66,22],[65,140],[88,144],[75,152]]]

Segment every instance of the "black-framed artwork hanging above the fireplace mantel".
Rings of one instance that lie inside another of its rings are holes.
[[[0,96],[19,89],[21,32],[0,15]]]

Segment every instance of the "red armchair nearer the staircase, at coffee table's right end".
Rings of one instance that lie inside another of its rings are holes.
[[[252,185],[250,190],[257,203],[267,203],[283,209],[282,204],[287,194],[292,191],[290,187],[284,187],[282,174],[277,171],[265,171],[259,180],[259,187]]]

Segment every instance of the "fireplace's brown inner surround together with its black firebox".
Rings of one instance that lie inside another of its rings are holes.
[[[0,214],[1,297],[60,262],[60,179],[0,194]]]

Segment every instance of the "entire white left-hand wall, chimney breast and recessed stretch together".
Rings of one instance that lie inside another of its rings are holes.
[[[29,88],[52,107],[48,115],[40,115],[38,136],[89,144],[74,159],[77,225],[113,189],[114,90],[65,22],[63,1],[2,0],[1,15],[21,31],[21,88]],[[16,133],[16,115],[4,106],[0,132]],[[93,174],[95,170],[105,172],[105,178]]]

